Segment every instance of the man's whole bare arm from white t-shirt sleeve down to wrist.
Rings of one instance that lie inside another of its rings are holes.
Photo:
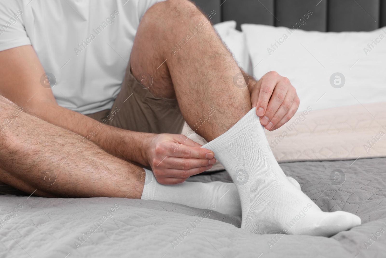
[[[1,96],[42,120],[84,136],[78,140],[79,147],[91,139],[112,155],[147,165],[142,145],[149,134],[103,126],[103,123],[60,107],[51,88],[42,87],[42,74],[44,69],[31,45],[0,51]],[[103,126],[103,129],[91,137],[98,126]]]

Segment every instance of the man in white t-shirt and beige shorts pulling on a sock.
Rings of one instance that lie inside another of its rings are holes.
[[[4,183],[40,196],[222,202],[220,212],[241,209],[242,228],[256,233],[330,236],[361,223],[322,212],[286,178],[261,124],[274,130],[293,116],[295,89],[275,72],[249,80],[193,3],[0,5],[8,22],[0,29],[0,93],[33,114],[1,99]],[[184,120],[209,143],[200,148],[176,134]],[[215,155],[237,188],[183,183]],[[231,194],[220,200],[223,189]]]

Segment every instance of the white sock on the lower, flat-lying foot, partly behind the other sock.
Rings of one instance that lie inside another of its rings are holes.
[[[142,200],[173,202],[190,207],[212,208],[222,214],[241,216],[240,198],[234,183],[183,182],[177,185],[161,185],[152,171],[145,169],[146,179]]]

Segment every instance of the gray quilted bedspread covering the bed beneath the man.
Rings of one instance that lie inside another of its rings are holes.
[[[175,203],[2,195],[0,257],[386,257],[386,158],[280,166],[323,211],[357,214],[362,225],[330,238],[285,235],[269,246],[274,235],[244,231],[239,218],[215,210],[194,224],[208,213]],[[230,178],[190,178],[214,180]]]

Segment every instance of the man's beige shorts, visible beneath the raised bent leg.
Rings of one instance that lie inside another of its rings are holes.
[[[154,97],[134,78],[130,67],[113,107],[87,116],[107,125],[146,133],[179,134],[184,125],[177,100]]]

